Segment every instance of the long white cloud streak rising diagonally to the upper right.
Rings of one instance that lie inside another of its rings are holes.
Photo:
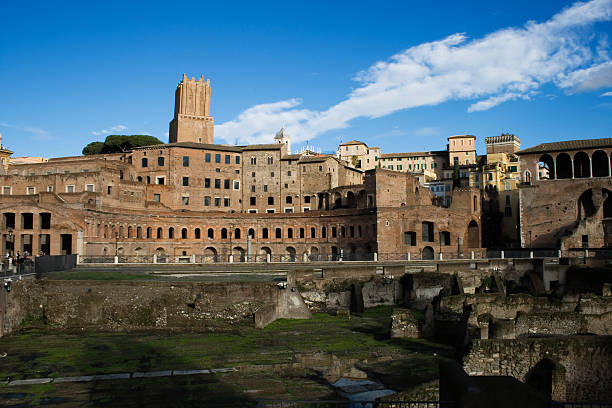
[[[324,111],[290,99],[251,107],[215,128],[226,141],[271,142],[281,126],[295,141],[399,110],[474,100],[469,112],[529,99],[545,84],[570,93],[612,85],[607,37],[594,23],[612,19],[612,0],[575,3],[543,23],[527,22],[480,39],[454,34],[408,48],[355,76],[360,86]],[[480,99],[480,100],[479,100]]]

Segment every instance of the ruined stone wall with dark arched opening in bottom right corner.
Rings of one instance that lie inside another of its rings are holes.
[[[469,375],[509,375],[526,382],[530,370],[550,361],[552,397],[559,401],[612,400],[612,338],[573,336],[475,340],[463,367]]]

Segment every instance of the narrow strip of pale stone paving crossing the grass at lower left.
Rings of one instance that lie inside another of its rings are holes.
[[[213,368],[211,370],[165,370],[165,371],[147,371],[135,373],[118,373],[118,374],[98,374],[98,375],[82,375],[76,377],[48,377],[48,378],[30,378],[26,380],[0,381],[0,385],[32,385],[32,384],[48,384],[48,383],[65,383],[65,382],[91,382],[100,380],[128,380],[130,378],[153,378],[153,377],[170,377],[180,375],[198,375],[198,374],[217,374],[231,373],[238,371],[235,367],[231,368]]]

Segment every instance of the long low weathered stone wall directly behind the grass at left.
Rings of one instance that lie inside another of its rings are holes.
[[[309,318],[299,292],[273,282],[33,281],[3,292],[3,334],[26,319],[102,330],[214,330],[276,318]]]

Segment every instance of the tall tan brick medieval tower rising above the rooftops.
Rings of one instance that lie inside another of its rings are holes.
[[[183,74],[174,94],[174,119],[170,143],[212,143],[214,119],[210,116],[210,79],[196,80]]]

